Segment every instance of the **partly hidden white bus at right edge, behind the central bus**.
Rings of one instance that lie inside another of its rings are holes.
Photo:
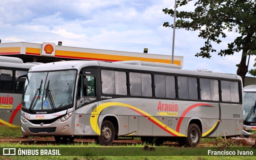
[[[256,131],[256,85],[244,87],[244,137]]]

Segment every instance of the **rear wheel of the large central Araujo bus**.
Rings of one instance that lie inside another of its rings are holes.
[[[201,140],[201,131],[198,125],[192,123],[188,126],[188,136],[184,139],[185,145],[195,147]]]

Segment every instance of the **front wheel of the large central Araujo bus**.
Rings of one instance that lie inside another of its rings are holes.
[[[108,146],[115,138],[115,128],[112,122],[104,120],[101,125],[101,135],[95,138],[97,144]]]

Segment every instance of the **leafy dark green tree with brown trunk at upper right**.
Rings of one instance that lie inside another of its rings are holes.
[[[176,7],[186,6],[192,1],[177,0]],[[194,12],[176,12],[176,28],[199,31],[198,37],[206,41],[195,56],[203,58],[210,58],[210,53],[216,52],[212,45],[222,42],[227,36],[225,32],[237,32],[239,36],[226,49],[220,50],[218,55],[233,55],[242,51],[241,62],[236,66],[237,74],[242,77],[244,84],[250,55],[256,54],[255,3],[255,0],[197,0]],[[172,9],[165,8],[163,12],[174,16]],[[173,24],[169,22],[164,22],[163,26],[173,28]]]

